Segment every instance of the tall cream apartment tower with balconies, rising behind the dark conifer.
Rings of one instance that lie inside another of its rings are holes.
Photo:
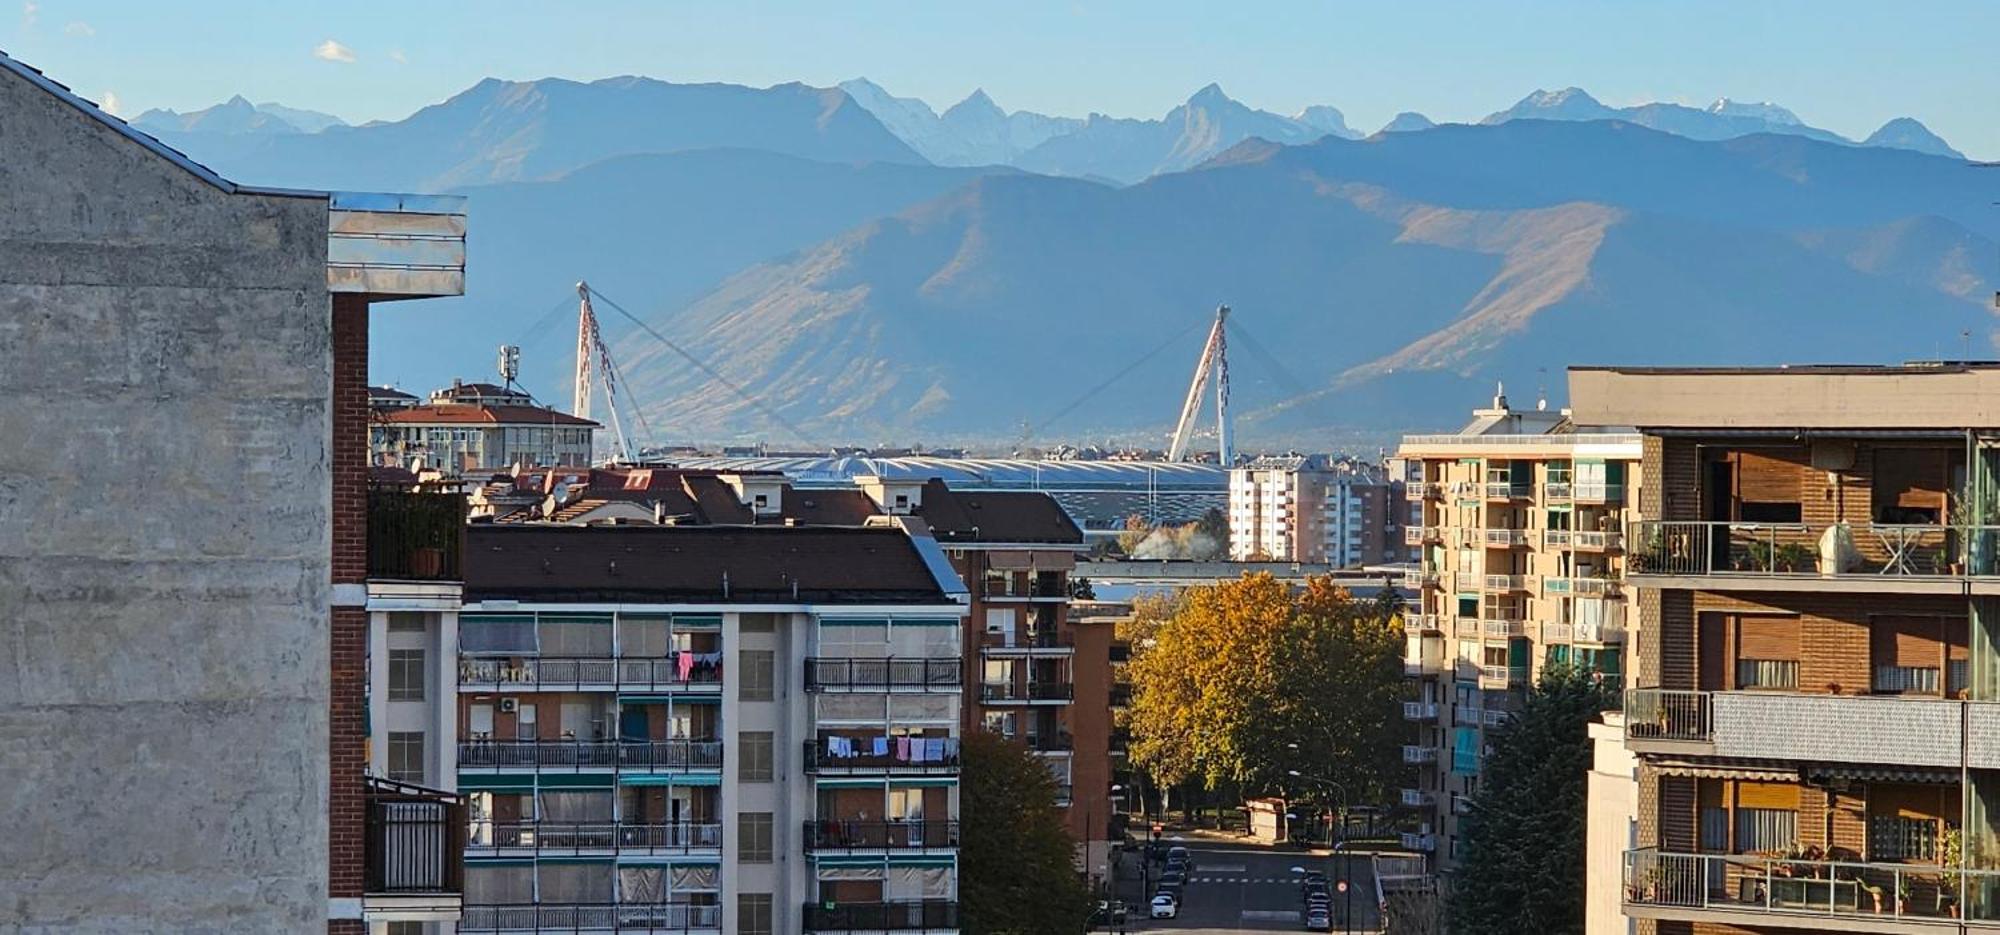
[[[1620,577],[1642,489],[1640,438],[1560,412],[1512,410],[1504,394],[1448,436],[1408,436],[1398,458],[1420,549],[1406,587],[1404,717],[1420,817],[1404,845],[1436,869],[1460,857],[1460,817],[1480,789],[1486,735],[1520,709],[1550,663],[1618,683],[1636,621]]]

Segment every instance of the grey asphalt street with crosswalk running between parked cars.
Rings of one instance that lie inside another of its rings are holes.
[[[1340,857],[1312,857],[1294,849],[1272,849],[1218,841],[1180,841],[1194,853],[1194,873],[1182,891],[1178,919],[1144,919],[1152,893],[1140,897],[1138,855],[1124,863],[1124,893],[1132,905],[1126,931],[1176,931],[1190,935],[1230,935],[1252,931],[1304,931],[1304,903],[1292,867],[1342,877]],[[1160,867],[1152,867],[1158,875]],[[1374,877],[1366,855],[1354,855],[1354,931],[1374,931]],[[1334,897],[1334,931],[1342,931],[1342,895]]]

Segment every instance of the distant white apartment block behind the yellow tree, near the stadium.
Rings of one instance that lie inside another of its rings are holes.
[[[1264,456],[1230,469],[1230,559],[1350,567],[1398,561],[1400,503],[1380,466]]]

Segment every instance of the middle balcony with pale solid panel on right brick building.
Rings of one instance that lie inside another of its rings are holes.
[[[1812,763],[1960,765],[1964,701],[1792,691],[1626,691],[1634,753],[1798,759]],[[1972,703],[1974,733],[2000,705]],[[1986,765],[1974,747],[1972,765]]]

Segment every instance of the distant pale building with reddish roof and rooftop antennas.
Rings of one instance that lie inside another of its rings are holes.
[[[596,430],[580,416],[538,406],[512,386],[464,384],[418,404],[394,388],[368,388],[372,464],[460,473],[476,468],[588,468]]]

